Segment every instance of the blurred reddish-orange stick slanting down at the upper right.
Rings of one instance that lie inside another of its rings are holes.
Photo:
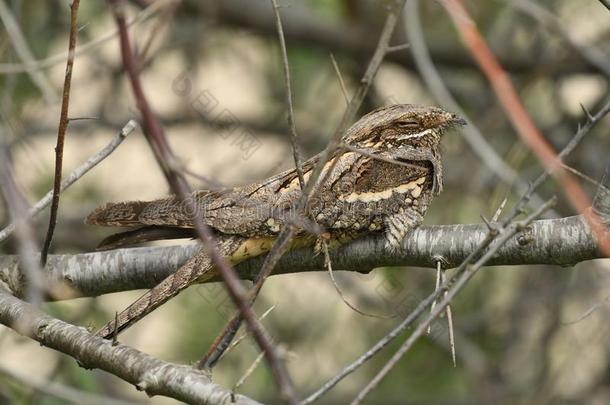
[[[558,165],[555,151],[528,115],[508,74],[487,46],[461,0],[442,0],[442,4],[451,16],[468,50],[491,83],[513,128],[561,184],[564,194],[572,206],[580,213],[587,213],[587,209],[591,206],[589,197],[574,177]],[[587,111],[585,113],[587,118],[591,119],[590,114]],[[610,240],[602,237],[604,227],[600,225],[601,221],[594,212],[589,212],[585,217],[593,233],[598,236],[600,249],[606,256],[610,257]]]

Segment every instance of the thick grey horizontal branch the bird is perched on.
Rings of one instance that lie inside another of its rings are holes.
[[[461,263],[487,234],[484,224],[422,226],[411,232],[399,250],[392,250],[381,235],[361,238],[331,252],[337,270],[366,272],[382,266],[436,266],[442,256],[448,266]],[[608,232],[607,237],[610,237]],[[198,244],[142,247],[77,255],[50,255],[50,277],[62,280],[83,296],[150,288],[167,277],[198,251]],[[487,265],[554,264],[570,266],[602,258],[582,216],[534,221],[504,245]],[[258,273],[264,258],[254,258],[236,268],[244,278]],[[324,271],[324,258],[311,249],[285,254],[275,274]],[[0,256],[0,280],[12,291],[23,290],[16,256]]]

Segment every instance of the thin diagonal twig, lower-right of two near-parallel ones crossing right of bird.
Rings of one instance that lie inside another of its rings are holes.
[[[413,346],[413,344],[425,333],[428,325],[440,315],[440,313],[448,307],[451,300],[460,292],[466,283],[477,273],[481,267],[496,253],[496,251],[506,243],[511,237],[517,232],[527,227],[527,225],[537,218],[542,212],[548,209],[552,204],[555,203],[555,199],[549,200],[547,203],[540,206],[536,211],[529,215],[523,221],[516,223],[510,223],[499,231],[497,242],[493,247],[485,252],[485,254],[477,260],[476,263],[468,265],[464,268],[464,271],[460,274],[459,279],[455,282],[451,288],[447,289],[447,284],[444,284],[445,291],[442,301],[436,306],[436,308],[426,317],[425,320],[419,323],[415,331],[409,336],[405,343],[396,351],[396,353],[390,358],[385,366],[375,375],[375,377],[360,391],[356,398],[351,402],[350,405],[358,405],[362,400],[381,382],[381,380],[388,374],[388,372],[398,363],[398,361],[405,355],[405,353]]]

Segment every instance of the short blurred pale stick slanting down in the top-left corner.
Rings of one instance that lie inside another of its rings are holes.
[[[15,20],[15,17],[4,0],[0,0],[0,19],[4,23],[6,32],[11,40],[15,52],[19,56],[19,59],[21,59],[26,66],[32,64],[34,62],[32,51],[30,51],[23,33],[19,28],[19,24]],[[27,68],[24,71],[30,75],[32,82],[38,86],[47,104],[52,104],[57,100],[55,89],[53,89],[51,83],[41,72],[32,68]]]

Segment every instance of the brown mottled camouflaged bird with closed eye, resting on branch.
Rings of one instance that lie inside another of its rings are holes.
[[[382,232],[398,247],[423,220],[432,197],[443,187],[439,153],[441,135],[465,124],[437,107],[409,104],[379,108],[351,126],[343,143],[325,164],[307,217],[323,228],[331,246]],[[302,164],[305,181],[319,155]],[[233,263],[267,253],[282,227],[295,223],[301,196],[297,171],[287,170],[263,182],[191,195],[196,215],[214,232],[219,252]],[[176,197],[155,201],[109,203],[86,222],[138,227],[113,235],[102,246],[118,247],[159,239],[194,237],[193,212]],[[192,210],[191,210],[192,211]],[[305,228],[305,227],[303,227]],[[320,236],[301,229],[291,248],[319,248]],[[98,335],[111,337],[189,285],[216,275],[202,248],[174,274],[146,292],[104,326]]]

